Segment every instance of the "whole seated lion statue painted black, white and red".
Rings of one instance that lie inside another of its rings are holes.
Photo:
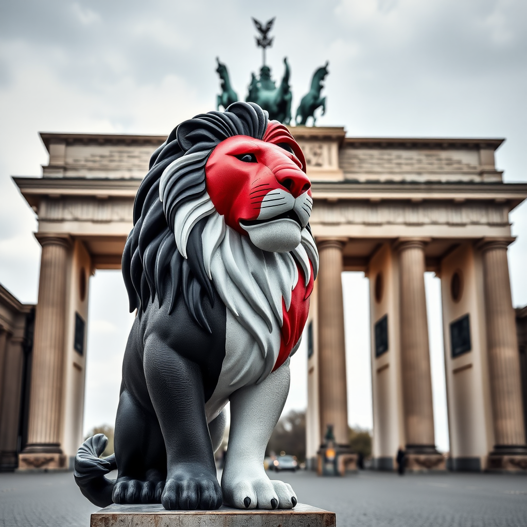
[[[150,160],[122,271],[137,309],[123,360],[115,455],[91,437],[75,480],[93,503],[290,509],[266,445],[289,391],[318,253],[298,144],[237,102],[184,121]],[[221,488],[213,452],[225,429]],[[116,482],[104,474],[118,470]]]

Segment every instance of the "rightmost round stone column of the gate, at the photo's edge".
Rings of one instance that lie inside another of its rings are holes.
[[[487,328],[487,353],[494,421],[494,451],[490,468],[517,470],[515,458],[527,469],[523,427],[520,357],[512,307],[507,246],[510,240],[482,245]],[[512,457],[511,457],[512,456]],[[511,465],[512,463],[512,465]],[[511,465],[511,466],[509,466]]]

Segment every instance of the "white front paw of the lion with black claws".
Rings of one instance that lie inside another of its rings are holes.
[[[267,475],[257,479],[222,480],[223,501],[236,509],[292,509],[297,496],[289,483],[270,480]]]

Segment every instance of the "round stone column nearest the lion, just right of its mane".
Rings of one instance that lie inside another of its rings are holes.
[[[320,263],[317,277],[320,433],[324,438],[327,425],[333,425],[337,444],[347,445],[346,350],[340,277],[344,241],[317,241],[317,247]]]

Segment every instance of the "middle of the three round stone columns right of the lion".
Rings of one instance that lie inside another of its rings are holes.
[[[444,469],[443,458],[435,450],[424,242],[417,239],[400,241],[397,249],[407,467],[409,470]]]

